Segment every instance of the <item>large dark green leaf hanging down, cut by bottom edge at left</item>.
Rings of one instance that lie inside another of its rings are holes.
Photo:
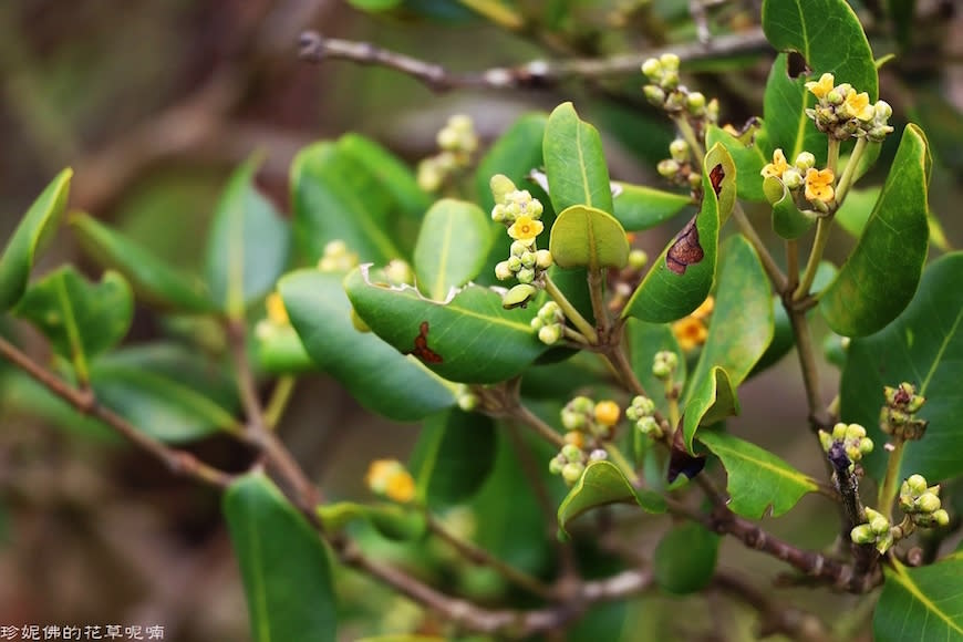
[[[307,520],[262,474],[224,495],[256,642],[336,639],[328,551]]]

